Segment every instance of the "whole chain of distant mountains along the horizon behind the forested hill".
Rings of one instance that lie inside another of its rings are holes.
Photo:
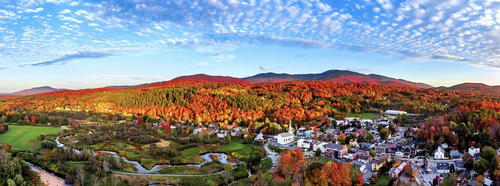
[[[205,74],[196,74],[190,76],[180,76],[172,80],[195,80],[202,82],[214,83],[229,83],[229,84],[250,84],[250,83],[268,83],[268,82],[286,82],[286,81],[329,81],[340,83],[366,83],[375,85],[386,85],[395,87],[409,87],[417,89],[440,89],[448,91],[475,91],[481,93],[500,94],[500,86],[488,86],[480,83],[464,83],[452,87],[432,87],[423,83],[415,83],[402,79],[389,78],[376,74],[360,74],[357,72],[346,70],[329,70],[319,74],[275,74],[275,73],[262,73],[255,76],[246,78],[234,78],[228,76],[209,76]],[[162,82],[156,82],[162,83]],[[108,86],[104,88],[111,89],[125,89],[132,87],[147,86],[156,83],[140,84],[133,86]],[[37,87],[27,89],[15,93],[0,93],[4,95],[30,95],[36,93],[46,93],[52,91],[63,91],[68,89],[54,89],[51,87]]]

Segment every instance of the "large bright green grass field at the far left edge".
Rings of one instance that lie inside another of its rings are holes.
[[[7,132],[0,134],[0,144],[8,143],[14,148],[28,151],[29,140],[38,138],[40,133],[49,135],[60,131],[58,127],[8,125]]]

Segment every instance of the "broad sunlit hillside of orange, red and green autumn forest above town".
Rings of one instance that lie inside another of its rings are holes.
[[[59,91],[7,99],[13,102],[10,107],[23,106],[44,112],[70,107],[197,121],[248,122],[268,117],[278,123],[286,122],[290,116],[297,121],[310,121],[325,115],[340,117],[341,113],[374,112],[375,109],[444,114],[470,108],[478,101],[498,103],[498,98],[481,93],[358,83],[312,81],[234,85],[192,80],[121,90]]]

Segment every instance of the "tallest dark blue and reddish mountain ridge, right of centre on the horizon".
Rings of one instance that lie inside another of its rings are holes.
[[[360,74],[345,70],[329,70],[320,74],[275,74],[263,73],[247,78],[241,78],[252,83],[285,82],[285,81],[329,81],[340,83],[366,83],[419,89],[433,88],[423,83],[415,83],[402,79],[394,79],[376,74]]]

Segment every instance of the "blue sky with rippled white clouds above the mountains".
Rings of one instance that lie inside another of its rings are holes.
[[[0,93],[350,70],[500,85],[499,0],[0,0]]]

